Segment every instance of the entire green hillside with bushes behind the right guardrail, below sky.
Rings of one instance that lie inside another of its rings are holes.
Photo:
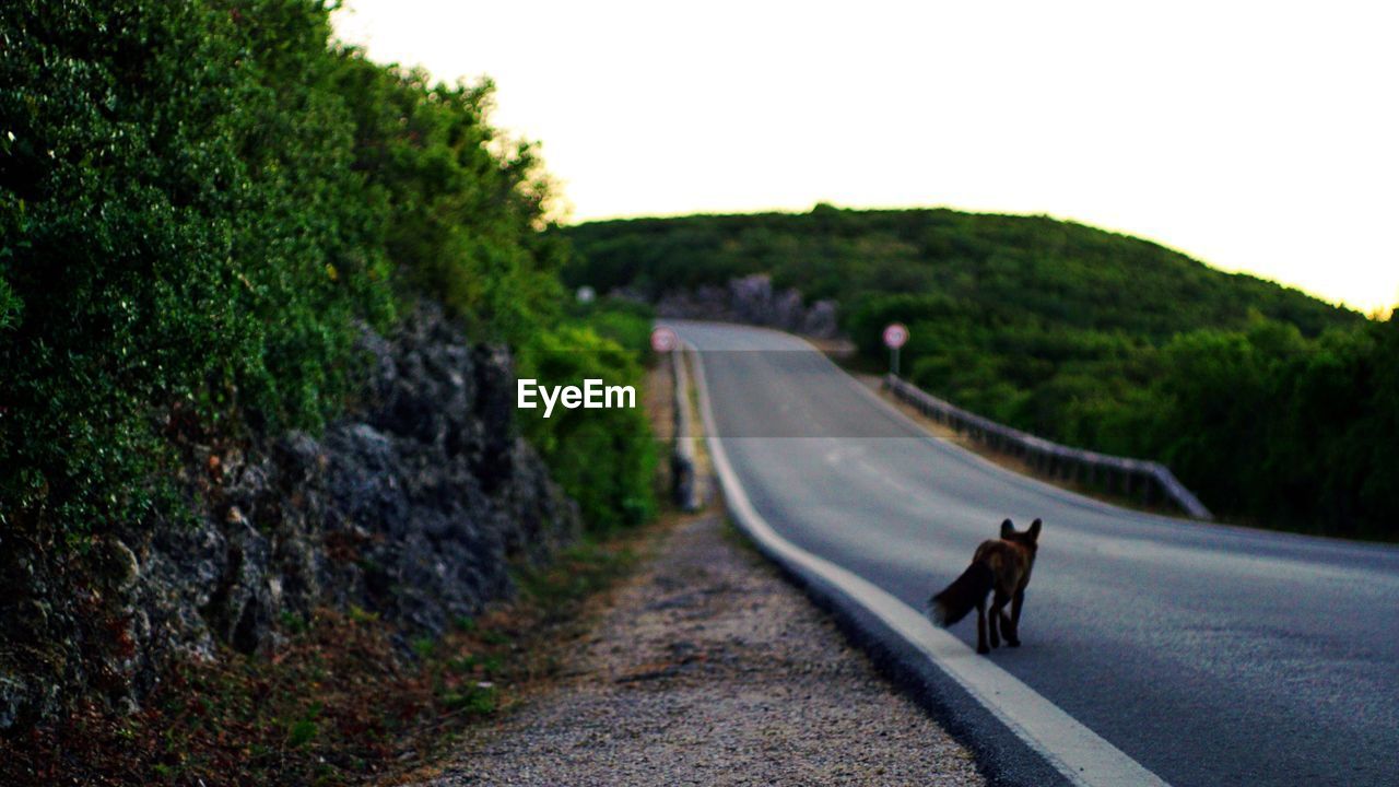
[[[1164,461],[1216,511],[1399,538],[1399,321],[1046,217],[693,216],[562,231],[569,284],[656,297],[768,272],[841,301],[863,354],[1011,426]]]

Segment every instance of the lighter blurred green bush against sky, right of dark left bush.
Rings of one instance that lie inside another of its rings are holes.
[[[561,301],[548,183],[534,148],[487,123],[492,85],[432,84],[346,52],[336,84],[354,118],[354,169],[385,216],[400,283],[441,300],[473,335],[525,342]]]

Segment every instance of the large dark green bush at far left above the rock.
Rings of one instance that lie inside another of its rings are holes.
[[[323,417],[385,269],[322,10],[21,0],[0,25],[3,514],[83,532],[150,506],[175,413]]]

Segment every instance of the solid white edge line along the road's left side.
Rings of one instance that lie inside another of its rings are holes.
[[[700,415],[704,420],[709,457],[729,511],[747,534],[764,546],[772,557],[800,566],[841,588],[860,606],[879,618],[928,657],[939,669],[983,704],[1031,749],[1039,753],[1070,783],[1080,786],[1149,784],[1165,787],[1158,776],[1142,767],[1112,744],[1104,741],[1056,704],[1020,682],[1018,678],[978,655],[957,637],[933,626],[912,606],[894,598],[869,580],[818,557],[786,541],[768,525],[739,482],[729,464],[723,441],[715,429],[709,406],[709,384],[704,360],[688,343],[686,349],[694,360],[695,388],[700,394]],[[900,413],[902,415],[902,413]]]

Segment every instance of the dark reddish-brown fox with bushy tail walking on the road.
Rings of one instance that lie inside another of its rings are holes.
[[[1010,647],[1020,647],[1020,609],[1025,604],[1025,585],[1035,564],[1039,541],[1039,520],[1025,531],[1016,531],[1014,522],[1000,522],[1000,538],[983,541],[971,559],[971,566],[942,592],[928,599],[932,619],[939,626],[951,626],[977,608],[977,653],[986,654],[1000,647],[1006,639]],[[986,647],[986,594],[995,591],[990,602],[990,647]],[[1006,615],[1010,604],[1010,615]]]

